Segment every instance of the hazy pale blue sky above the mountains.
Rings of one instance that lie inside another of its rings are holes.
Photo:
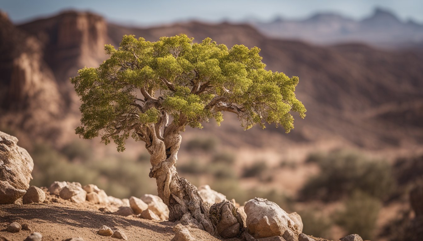
[[[423,22],[423,0],[0,0],[0,9],[6,11],[14,22],[73,8],[93,11],[114,22],[135,25],[187,19],[216,22],[251,16],[263,20],[277,15],[305,18],[328,11],[359,19],[370,15],[377,6],[395,12],[401,19]]]

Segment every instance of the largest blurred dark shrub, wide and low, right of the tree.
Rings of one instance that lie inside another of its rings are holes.
[[[302,199],[338,200],[356,189],[384,199],[394,190],[391,166],[385,161],[344,151],[311,159],[319,165],[320,173],[302,188]]]

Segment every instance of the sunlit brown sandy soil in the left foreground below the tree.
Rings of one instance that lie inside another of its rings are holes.
[[[117,241],[116,238],[99,236],[96,233],[102,225],[112,230],[123,230],[128,240],[134,241],[170,241],[175,235],[172,231],[172,227],[176,225],[174,222],[122,217],[111,214],[109,210],[107,206],[87,202],[75,204],[51,195],[47,196],[46,203],[0,205],[0,240],[22,241],[30,233],[39,232],[43,235],[43,241],[72,237],[82,237],[85,241]],[[19,233],[8,233],[6,227],[15,221],[21,225],[27,223],[32,232],[21,230]],[[190,229],[190,233],[196,240],[219,240],[203,230]]]

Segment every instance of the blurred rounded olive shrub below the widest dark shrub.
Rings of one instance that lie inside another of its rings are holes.
[[[355,191],[351,198],[344,202],[344,209],[336,212],[334,219],[346,233],[357,233],[364,240],[371,240],[374,238],[381,206],[376,198],[364,192]]]

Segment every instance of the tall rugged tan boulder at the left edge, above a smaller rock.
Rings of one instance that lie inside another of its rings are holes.
[[[27,190],[34,161],[17,143],[16,137],[0,131],[0,181],[7,181],[17,190]]]

